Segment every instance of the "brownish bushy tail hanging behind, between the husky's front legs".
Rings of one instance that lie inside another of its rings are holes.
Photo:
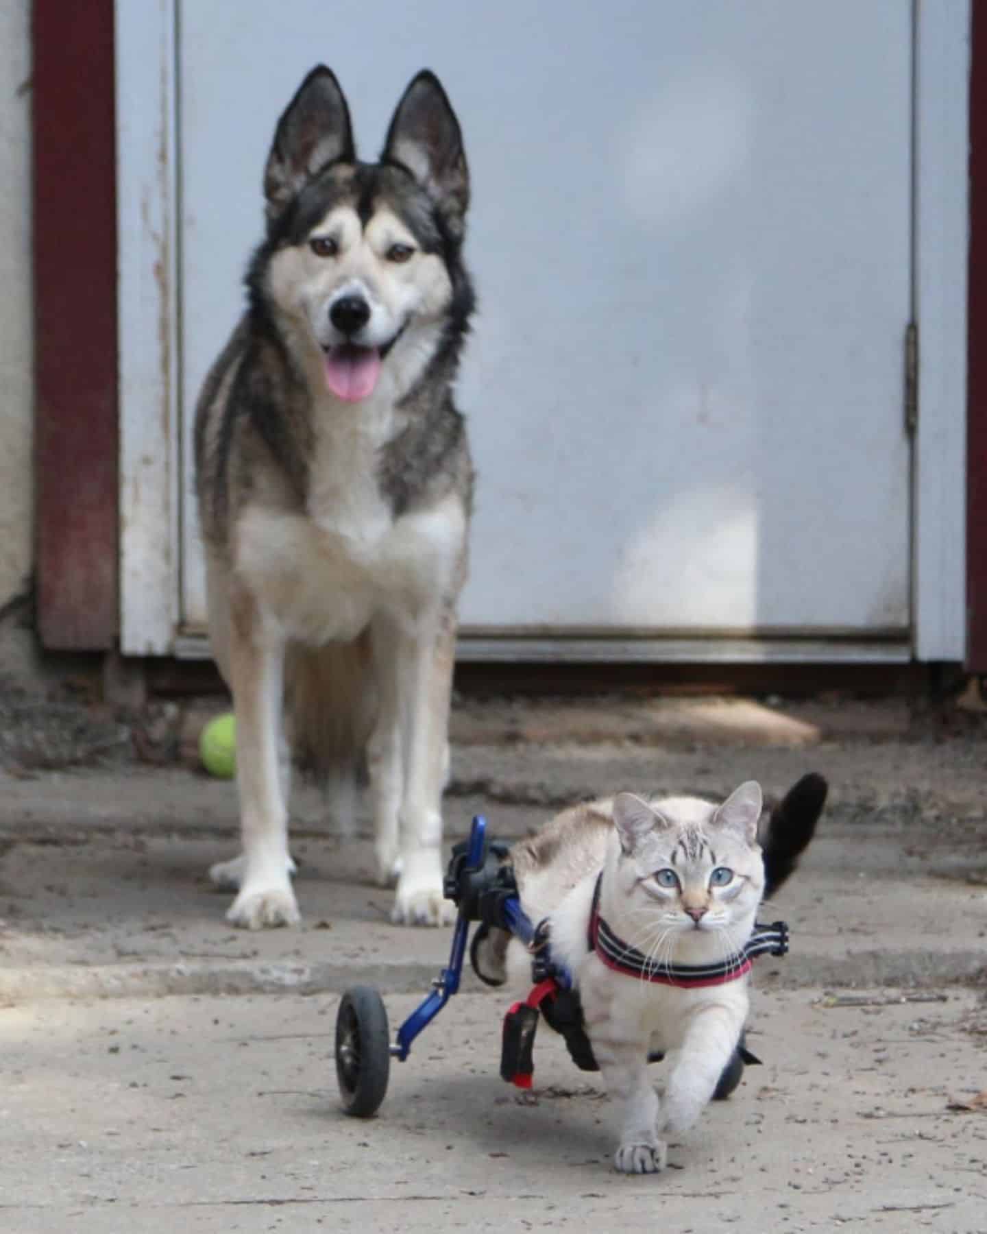
[[[320,648],[295,644],[285,701],[295,761],[332,793],[352,793],[376,717],[369,634]]]

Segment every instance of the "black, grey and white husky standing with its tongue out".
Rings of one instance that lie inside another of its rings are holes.
[[[473,494],[452,386],[474,306],[469,174],[438,79],[411,81],[380,160],[363,163],[339,83],[313,69],[278,123],[264,196],[248,307],[196,412],[243,834],[210,874],[238,888],[236,926],[296,923],[289,745],[337,797],[365,755],[392,918],[437,926],[452,917],[440,797]]]

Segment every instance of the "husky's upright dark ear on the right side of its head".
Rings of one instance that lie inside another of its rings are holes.
[[[406,167],[461,236],[470,201],[463,135],[439,79],[428,69],[412,79],[397,104],[381,162]]]

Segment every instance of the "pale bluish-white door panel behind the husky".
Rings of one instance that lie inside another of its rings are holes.
[[[185,459],[281,109],[328,63],[373,158],[428,65],[474,189],[464,626],[907,637],[911,4],[180,0],[178,31]]]

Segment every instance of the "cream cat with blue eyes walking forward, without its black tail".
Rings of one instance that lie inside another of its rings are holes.
[[[748,1014],[743,948],[765,884],[760,814],[753,780],[719,806],[622,792],[565,811],[511,851],[522,906],[533,922],[548,918],[553,959],[579,991],[617,1103],[622,1172],[664,1169],[666,1138],[696,1123],[737,1048]],[[531,961],[513,939],[512,986],[531,986]],[[671,982],[682,965],[718,977],[670,983],[669,965]],[[650,1051],[666,1055],[660,1097]]]

